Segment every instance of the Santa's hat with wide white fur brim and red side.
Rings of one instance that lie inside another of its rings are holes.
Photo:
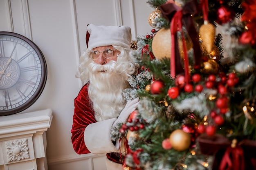
[[[98,46],[117,45],[129,49],[131,29],[129,26],[96,26],[89,24],[86,33],[87,49]]]

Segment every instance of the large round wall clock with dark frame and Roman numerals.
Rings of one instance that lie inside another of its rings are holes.
[[[38,46],[20,34],[0,32],[0,115],[19,113],[34,104],[46,78]]]

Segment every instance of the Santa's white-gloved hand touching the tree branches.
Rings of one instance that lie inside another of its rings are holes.
[[[129,100],[124,107],[124,109],[121,111],[119,117],[114,122],[113,126],[116,126],[119,123],[124,123],[126,119],[130,116],[130,114],[137,108],[139,104],[139,97]]]

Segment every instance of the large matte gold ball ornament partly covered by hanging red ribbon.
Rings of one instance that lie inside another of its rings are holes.
[[[152,40],[152,52],[154,56],[161,60],[171,56],[171,30],[162,28],[155,34]]]

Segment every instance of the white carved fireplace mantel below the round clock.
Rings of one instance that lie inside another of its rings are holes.
[[[0,117],[0,170],[47,170],[51,122],[51,109]]]

